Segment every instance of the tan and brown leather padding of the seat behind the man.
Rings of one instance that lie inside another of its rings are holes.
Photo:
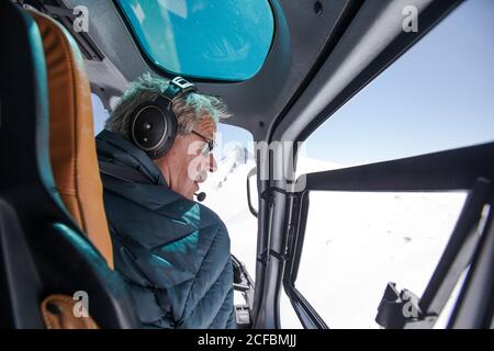
[[[43,39],[48,76],[49,157],[58,194],[113,267],[98,168],[91,91],[79,47],[55,20],[30,11]]]

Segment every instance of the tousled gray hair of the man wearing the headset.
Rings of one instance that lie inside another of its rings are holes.
[[[131,114],[143,102],[156,99],[168,88],[168,80],[144,73],[124,92],[115,109],[106,120],[105,128],[130,137]],[[171,111],[177,116],[177,134],[188,135],[203,116],[211,116],[216,123],[231,115],[226,111],[226,105],[217,98],[189,93],[186,97],[178,97],[171,103]]]

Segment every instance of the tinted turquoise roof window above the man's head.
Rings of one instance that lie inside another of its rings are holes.
[[[273,36],[267,0],[119,0],[142,48],[177,75],[246,80]]]

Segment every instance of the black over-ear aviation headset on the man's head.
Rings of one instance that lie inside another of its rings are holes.
[[[151,159],[168,152],[177,135],[177,116],[171,111],[173,99],[198,91],[182,77],[173,78],[162,94],[145,101],[132,112],[131,139]]]

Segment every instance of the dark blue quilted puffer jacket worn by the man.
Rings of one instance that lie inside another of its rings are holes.
[[[97,136],[115,269],[146,328],[235,328],[229,237],[120,135]]]

